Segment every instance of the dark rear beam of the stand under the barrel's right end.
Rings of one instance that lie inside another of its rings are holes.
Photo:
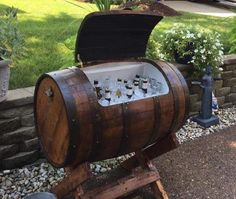
[[[148,159],[153,159],[158,157],[168,151],[171,151],[178,147],[178,142],[176,141],[175,133],[168,135],[167,137],[163,138],[156,144],[153,144],[143,150],[145,152]],[[133,156],[128,160],[122,162],[121,166],[124,169],[131,171],[133,168],[139,166],[139,162],[137,160],[137,156]]]

